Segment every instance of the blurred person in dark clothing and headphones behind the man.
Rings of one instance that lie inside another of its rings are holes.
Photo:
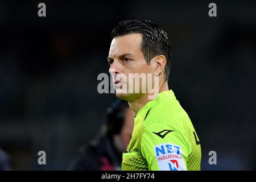
[[[106,121],[80,155],[72,161],[69,170],[121,170],[122,153],[131,140],[134,115],[126,101],[117,100],[108,109]]]

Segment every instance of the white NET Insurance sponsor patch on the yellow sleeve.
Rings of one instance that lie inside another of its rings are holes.
[[[180,146],[171,143],[154,146],[156,161],[161,171],[184,171],[185,164]]]

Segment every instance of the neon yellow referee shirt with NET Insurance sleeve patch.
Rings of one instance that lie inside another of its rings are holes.
[[[137,113],[122,170],[200,170],[201,146],[188,114],[172,90],[158,94]]]

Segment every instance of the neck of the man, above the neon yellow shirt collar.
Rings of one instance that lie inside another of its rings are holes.
[[[155,100],[156,97],[158,97],[159,93],[164,92],[164,91],[168,91],[168,90],[169,90],[169,88],[168,88],[168,82],[167,81],[165,81],[161,85],[159,84],[159,90],[158,90],[157,94],[155,94],[155,97],[153,98],[153,100]],[[157,91],[157,90],[155,90],[155,91]],[[148,99],[148,96],[149,96],[149,94],[146,93],[146,94],[143,94],[138,99],[136,99],[134,101],[131,101],[131,102],[128,102],[131,110],[134,111],[134,115],[137,115],[138,111],[141,110],[142,107],[147,104],[147,102],[151,101],[150,99]]]

